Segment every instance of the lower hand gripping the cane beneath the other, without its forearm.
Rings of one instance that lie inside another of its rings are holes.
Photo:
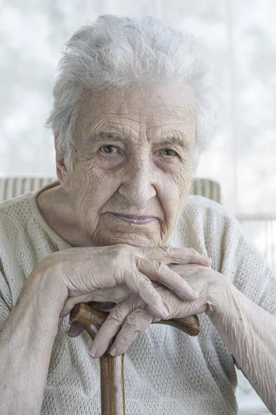
[[[170,269],[184,277],[186,282],[199,293],[199,297],[193,302],[183,301],[168,288],[156,283],[152,284],[170,311],[168,317],[163,320],[217,311],[219,294],[221,291],[224,292],[224,287],[230,285],[224,275],[217,273],[212,268],[196,264],[173,265],[170,266]],[[146,330],[152,322],[158,321],[160,319],[152,316],[148,307],[141,302],[137,295],[131,295],[112,309],[95,337],[90,348],[90,355],[95,358],[101,357],[108,349],[112,338],[117,335],[110,349],[110,354],[119,356],[125,353],[139,332]],[[74,331],[73,328],[72,335],[75,337],[78,334],[78,330]]]

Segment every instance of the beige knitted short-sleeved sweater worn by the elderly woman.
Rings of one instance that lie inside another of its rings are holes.
[[[69,248],[43,220],[36,196],[29,193],[0,205],[0,326],[37,264],[51,252]],[[170,243],[213,258],[215,270],[276,315],[275,274],[221,205],[189,196]],[[196,338],[152,325],[135,340],[125,356],[127,415],[237,413],[233,356],[208,317],[199,320]],[[59,323],[41,414],[98,415],[99,360],[88,355],[86,333],[70,339],[67,329],[68,317]]]

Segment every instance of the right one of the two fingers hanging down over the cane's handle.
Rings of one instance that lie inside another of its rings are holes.
[[[137,335],[148,329],[153,317],[144,308],[136,308],[126,317],[121,330],[116,336],[115,342],[110,349],[111,356],[119,356],[125,353],[130,344],[135,341]]]

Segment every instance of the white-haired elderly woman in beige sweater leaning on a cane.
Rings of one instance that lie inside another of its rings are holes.
[[[59,182],[1,205],[1,415],[99,414],[112,339],[127,414],[236,414],[235,365],[276,414],[275,274],[224,208],[188,197],[213,85],[195,40],[156,19],[103,16],[68,42]],[[66,334],[79,302],[115,303],[92,346]],[[188,315],[196,338],[150,326]]]

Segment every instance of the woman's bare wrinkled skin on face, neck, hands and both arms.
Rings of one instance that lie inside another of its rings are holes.
[[[185,86],[86,91],[74,169],[57,152],[61,186],[38,198],[43,217],[73,248],[41,261],[1,327],[2,412],[40,412],[59,317],[74,302],[92,299],[117,303],[90,349],[96,357],[118,330],[115,355],[153,317],[207,313],[276,414],[275,317],[212,270],[209,259],[189,248],[165,247],[190,188],[195,124],[193,94]],[[105,138],[108,131],[116,140]],[[170,142],[173,136],[180,145]],[[70,335],[78,334],[71,327]],[[31,400],[26,391],[33,392]]]

